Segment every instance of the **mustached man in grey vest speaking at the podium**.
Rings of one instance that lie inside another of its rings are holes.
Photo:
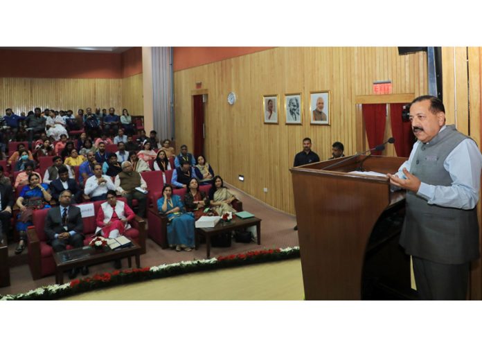
[[[400,244],[412,256],[422,300],[463,300],[470,262],[479,258],[482,155],[475,141],[445,125],[445,107],[434,96],[410,106],[418,141],[391,184],[407,190]]]

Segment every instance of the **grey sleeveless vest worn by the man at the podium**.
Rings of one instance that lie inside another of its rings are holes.
[[[427,144],[419,143],[410,172],[434,186],[451,186],[443,167],[447,156],[467,136],[447,125]],[[408,254],[442,264],[461,264],[479,258],[479,224],[476,208],[441,207],[407,192],[405,222],[400,244]]]

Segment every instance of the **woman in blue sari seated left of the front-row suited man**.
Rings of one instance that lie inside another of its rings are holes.
[[[40,176],[35,172],[28,176],[28,185],[24,186],[17,199],[17,207],[20,213],[17,215],[17,231],[19,233],[19,244],[15,254],[24,251],[27,242],[27,228],[32,225],[32,213],[34,209],[50,208],[51,201],[48,193],[48,186],[40,183]]]

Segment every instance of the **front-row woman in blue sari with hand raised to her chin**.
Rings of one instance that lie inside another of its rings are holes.
[[[191,251],[195,246],[195,219],[193,213],[186,213],[181,197],[172,194],[172,186],[166,184],[163,196],[157,200],[159,213],[166,215],[168,224],[168,244],[176,251]]]

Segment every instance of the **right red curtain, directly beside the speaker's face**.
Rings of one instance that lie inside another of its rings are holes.
[[[398,157],[409,157],[415,135],[409,121],[402,120],[403,106],[406,104],[390,104],[392,134],[395,138],[395,151]]]

